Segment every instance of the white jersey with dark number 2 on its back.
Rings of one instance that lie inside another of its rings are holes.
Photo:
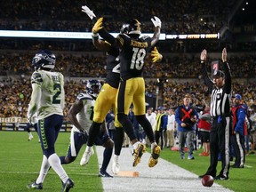
[[[63,116],[64,76],[60,72],[37,70],[31,76],[32,94],[28,119],[37,112],[38,120],[53,114]]]

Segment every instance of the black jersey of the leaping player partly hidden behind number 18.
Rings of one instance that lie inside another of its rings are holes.
[[[107,77],[106,83],[114,88],[118,88],[120,81],[120,60],[119,49],[116,46],[110,46],[107,55]]]

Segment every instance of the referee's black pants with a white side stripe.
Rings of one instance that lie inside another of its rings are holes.
[[[221,116],[212,119],[212,129],[210,132],[210,166],[206,174],[213,177],[217,173],[218,154],[221,154],[220,176],[228,178],[229,171],[229,140],[230,140],[230,117]]]

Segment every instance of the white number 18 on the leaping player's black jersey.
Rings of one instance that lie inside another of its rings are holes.
[[[137,69],[141,70],[144,65],[144,58],[146,56],[146,50],[140,49],[137,47],[133,47],[132,49],[133,55],[132,55],[132,63],[131,63],[131,69]]]

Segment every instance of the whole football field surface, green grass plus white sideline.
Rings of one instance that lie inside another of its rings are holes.
[[[27,132],[0,132],[0,191],[29,191],[27,184],[36,180],[42,161],[42,150],[36,132],[34,139],[28,141]],[[56,143],[56,152],[64,156],[68,149],[69,133],[60,132]],[[161,159],[154,168],[148,168],[149,153],[141,158],[140,164],[132,167],[132,148],[123,148],[120,158],[121,171],[139,172],[139,177],[114,176],[99,178],[99,165],[102,161],[102,147],[96,148],[96,154],[89,164],[80,166],[79,162],[85,146],[75,162],[63,165],[68,176],[75,181],[75,188],[70,191],[255,191],[256,156],[246,156],[244,169],[230,168],[229,180],[218,180],[212,188],[205,188],[197,175],[203,174],[209,157],[199,156],[195,151],[195,160],[180,160],[177,151],[164,148]],[[149,148],[148,148],[149,151]],[[188,156],[188,154],[186,154]],[[98,163],[99,158],[99,163]],[[231,162],[233,164],[233,162]],[[108,173],[112,163],[108,165]],[[220,171],[220,163],[218,164]],[[51,169],[44,180],[43,191],[60,191],[61,181]]]

